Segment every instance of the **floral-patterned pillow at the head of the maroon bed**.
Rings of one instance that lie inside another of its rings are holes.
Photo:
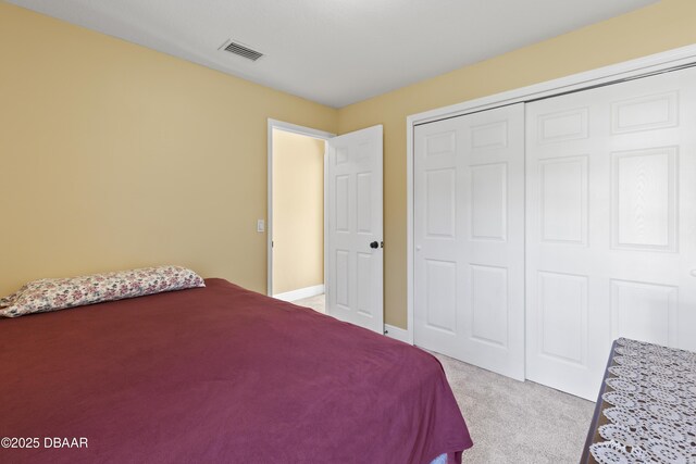
[[[206,284],[198,274],[181,266],[40,279],[0,299],[0,317],[17,317],[192,287],[206,287]]]

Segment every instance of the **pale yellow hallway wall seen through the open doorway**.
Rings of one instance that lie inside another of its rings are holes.
[[[273,294],[324,284],[324,141],[273,130]]]

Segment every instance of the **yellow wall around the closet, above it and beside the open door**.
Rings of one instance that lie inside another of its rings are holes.
[[[385,322],[407,326],[406,117],[696,42],[696,1],[662,0],[623,16],[356,103],[339,134],[384,125]]]

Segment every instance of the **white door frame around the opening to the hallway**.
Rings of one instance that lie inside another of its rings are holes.
[[[328,140],[336,137],[336,134],[311,127],[298,126],[269,117],[268,120],[268,208],[265,220],[266,236],[266,294],[273,297],[273,129],[286,133],[299,134],[320,140]],[[324,142],[324,284],[326,283],[326,143]]]

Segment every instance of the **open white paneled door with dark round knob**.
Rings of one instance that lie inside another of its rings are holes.
[[[327,141],[326,311],[384,333],[382,126]]]

